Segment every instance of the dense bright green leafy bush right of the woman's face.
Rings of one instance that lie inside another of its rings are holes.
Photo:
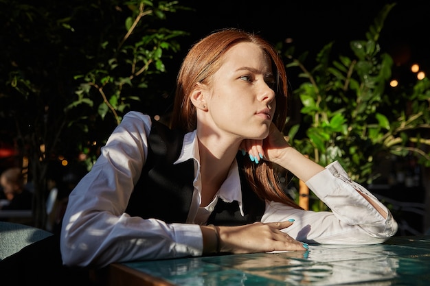
[[[387,91],[393,60],[381,52],[378,38],[393,6],[385,5],[366,40],[350,43],[353,57],[332,60],[334,43],[328,43],[308,71],[303,64],[306,54],[294,58],[293,49],[286,51],[287,67],[299,67],[304,78],[295,91],[303,106],[302,121],[288,130],[289,138],[320,165],[338,160],[352,180],[361,184],[378,176],[374,159],[379,154],[412,154],[430,166],[430,153],[422,147],[430,145],[430,140],[421,135],[430,128],[429,79],[414,88]],[[299,136],[300,131],[304,136]],[[321,208],[317,204],[315,208]]]

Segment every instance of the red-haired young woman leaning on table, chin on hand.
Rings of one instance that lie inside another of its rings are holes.
[[[277,51],[223,29],[196,43],[177,78],[171,128],[128,112],[69,196],[65,265],[381,243],[389,210],[339,163],[324,168],[288,145],[287,82]],[[305,211],[280,188],[275,165],[331,209]]]

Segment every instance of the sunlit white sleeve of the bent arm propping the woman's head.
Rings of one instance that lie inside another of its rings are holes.
[[[284,231],[308,243],[372,244],[382,243],[394,235],[398,225],[389,210],[372,193],[352,182],[338,162],[332,163],[310,178],[306,185],[330,211],[304,211],[270,202],[262,222],[295,219]],[[363,195],[387,213],[385,219]]]

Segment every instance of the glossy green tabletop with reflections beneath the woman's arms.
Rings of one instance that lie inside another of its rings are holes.
[[[430,285],[430,236],[111,265],[110,285]]]

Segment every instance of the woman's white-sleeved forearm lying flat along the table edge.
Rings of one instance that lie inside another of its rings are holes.
[[[63,263],[69,266],[104,267],[202,254],[200,228],[194,224],[98,213],[78,218],[73,224],[65,221],[65,225],[69,227],[63,228],[60,246]]]

